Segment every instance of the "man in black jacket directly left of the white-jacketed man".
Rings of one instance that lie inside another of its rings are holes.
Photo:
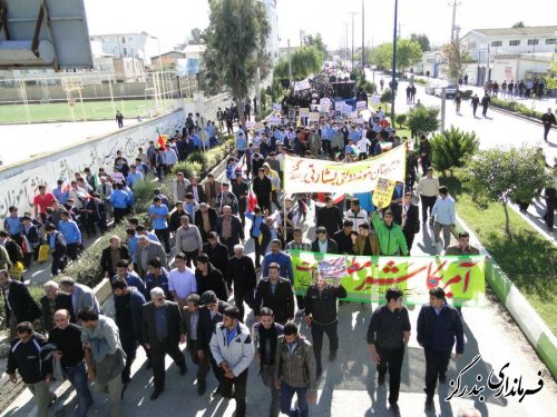
[[[197,320],[197,358],[199,359],[199,369],[197,370],[199,386],[197,387],[197,391],[205,393],[209,363],[216,379],[219,380],[221,378],[218,366],[211,354],[209,342],[216,324],[223,321],[224,310],[229,304],[219,300],[215,292],[206,291],[202,294],[201,305]]]

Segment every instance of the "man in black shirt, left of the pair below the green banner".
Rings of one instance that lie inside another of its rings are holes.
[[[371,359],[377,365],[378,385],[384,384],[389,366],[389,404],[399,415],[400,370],[404,358],[404,347],[410,339],[410,319],[402,306],[403,292],[399,288],[387,290],[387,305],[377,308],[371,315],[368,328],[368,345]]]

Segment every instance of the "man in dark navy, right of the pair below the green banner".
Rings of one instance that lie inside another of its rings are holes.
[[[458,311],[447,304],[440,287],[429,290],[429,305],[422,306],[418,316],[418,342],[426,354],[426,409],[433,408],[437,378],[447,381],[447,367],[457,340],[455,359],[465,350],[465,332]]]

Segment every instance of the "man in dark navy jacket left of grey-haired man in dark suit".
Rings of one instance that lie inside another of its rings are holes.
[[[120,341],[126,353],[126,366],[121,371],[121,383],[131,380],[131,364],[136,358],[137,346],[143,345],[143,305],[145,297],[136,287],[130,287],[126,279],[117,277],[113,281],[116,325],[120,330]]]

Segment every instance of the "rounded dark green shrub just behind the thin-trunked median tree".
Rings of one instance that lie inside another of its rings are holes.
[[[455,127],[442,133],[433,135],[431,145],[431,161],[439,171],[460,168],[478,151],[479,139],[475,132],[465,132]]]

